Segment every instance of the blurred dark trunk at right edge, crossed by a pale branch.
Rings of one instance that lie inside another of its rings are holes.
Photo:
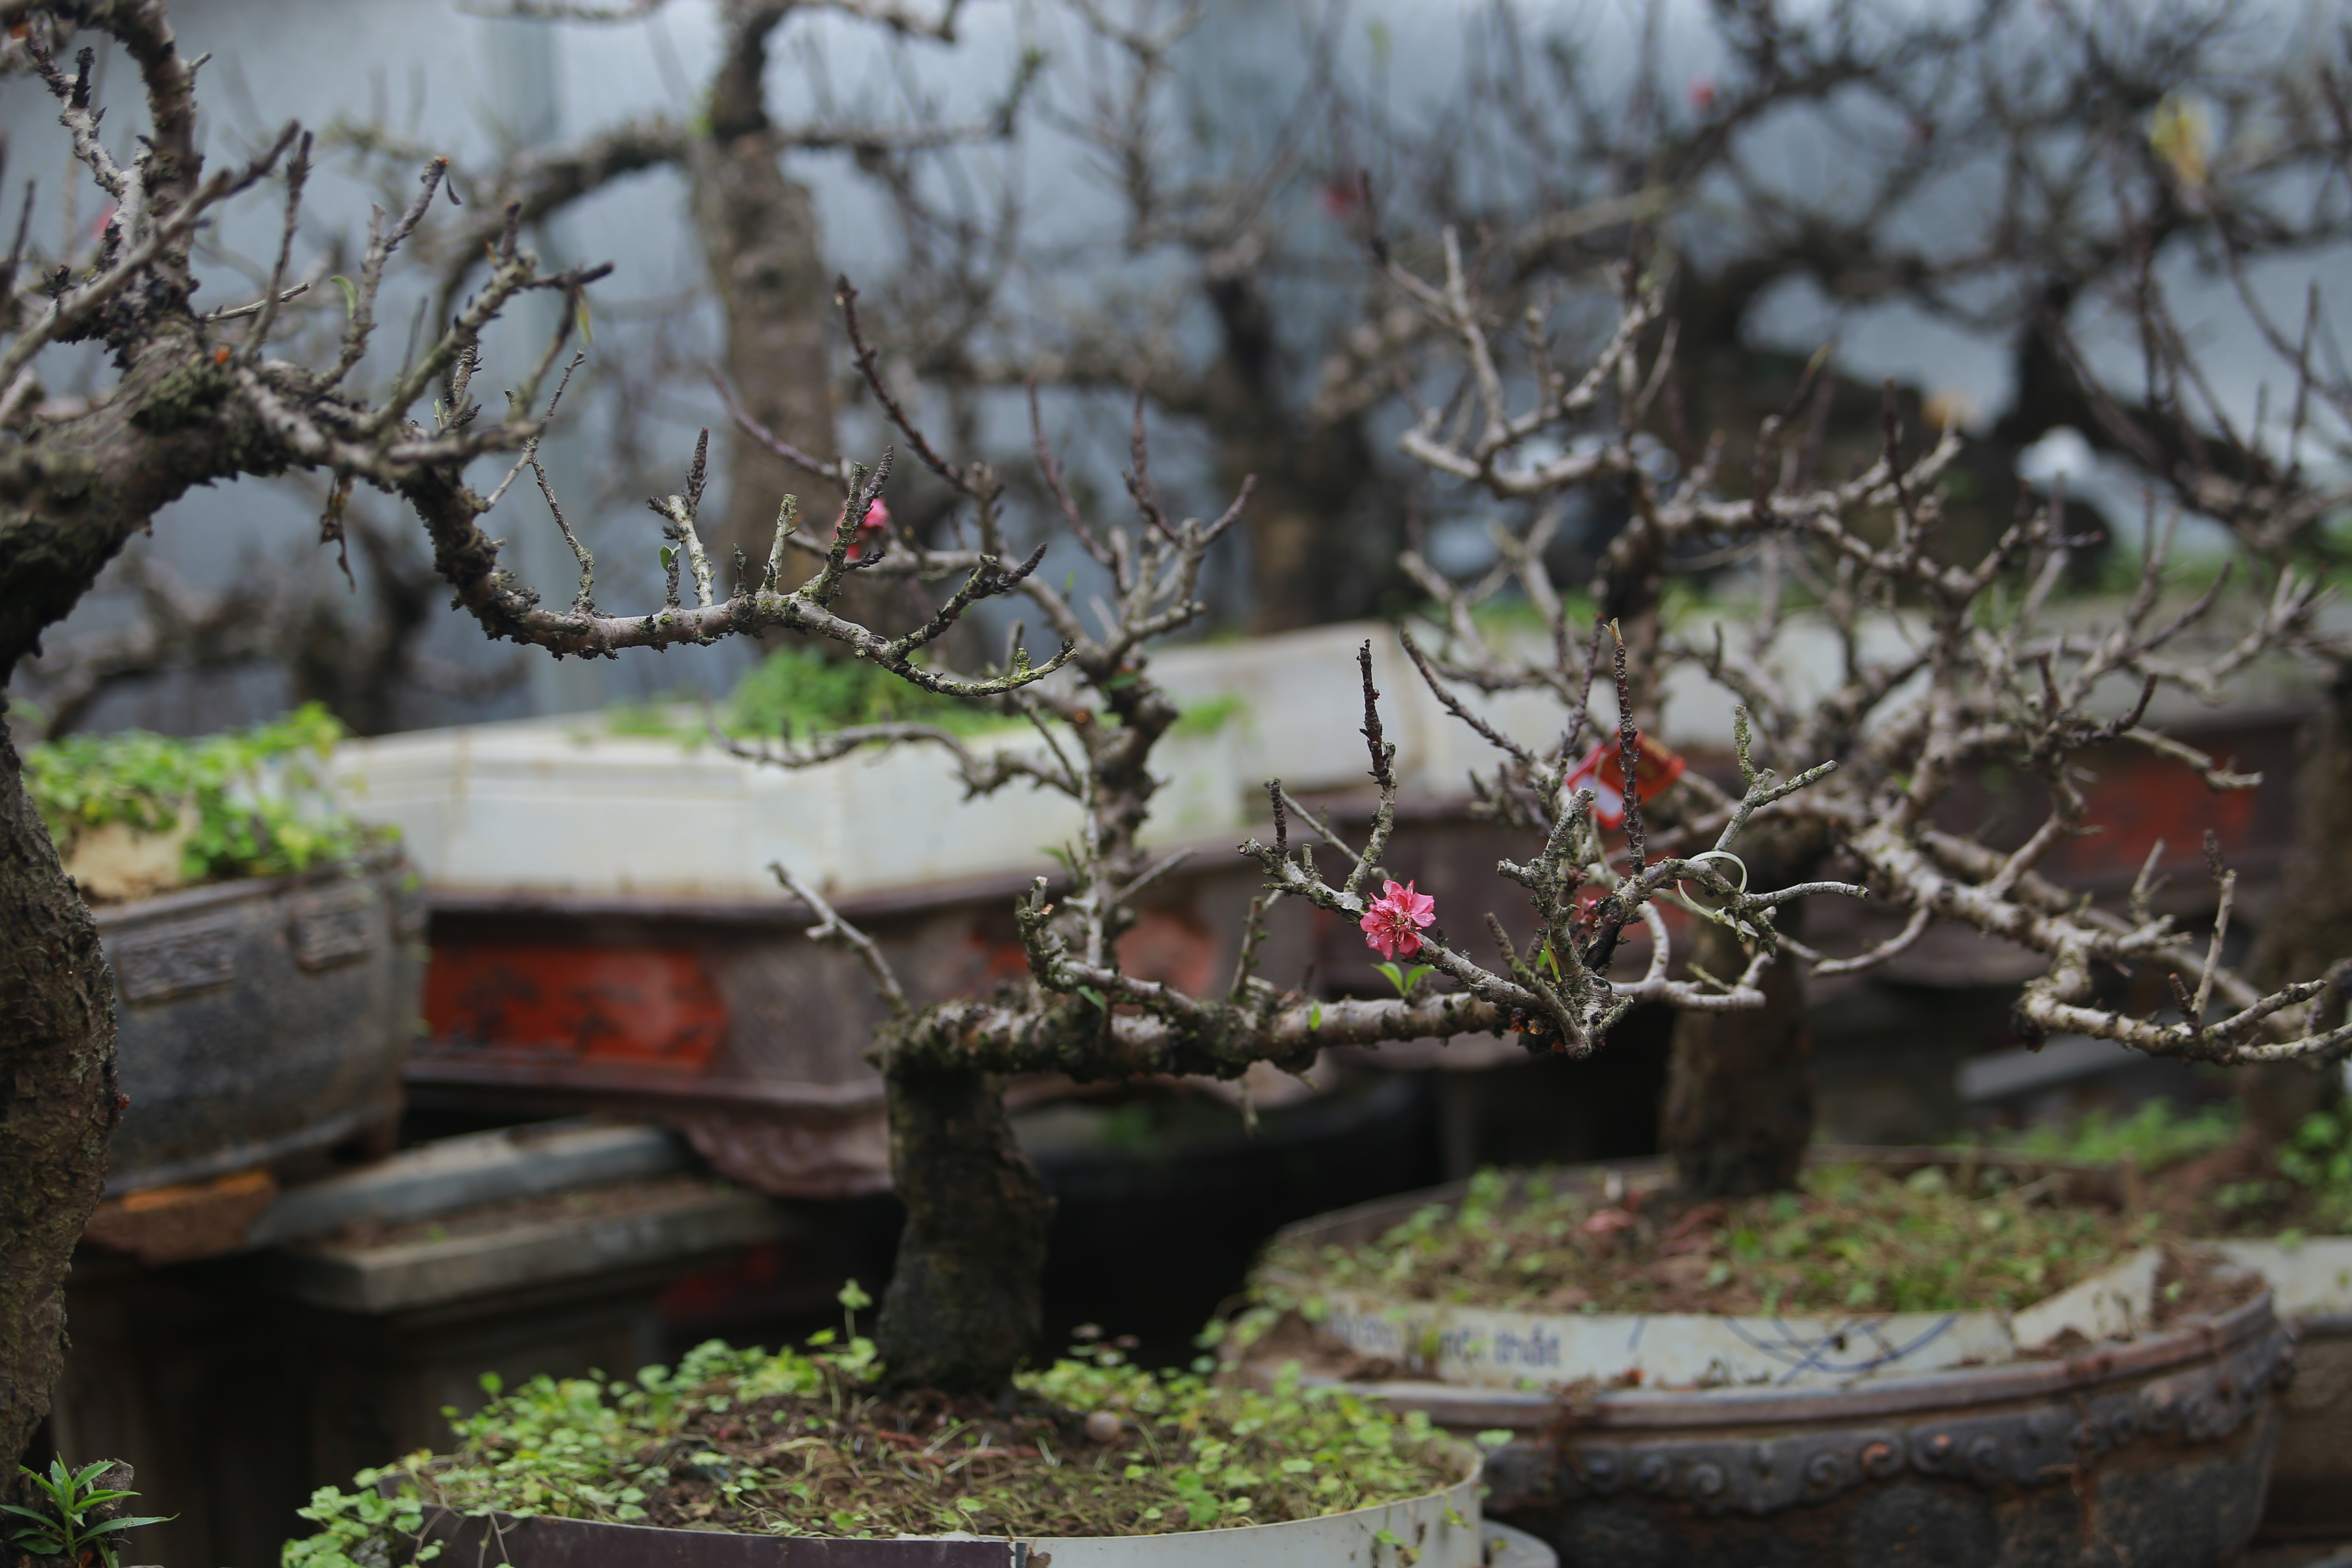
[[[2253,961],[2246,966],[2263,987],[2324,976],[2352,957],[2352,670],[2321,693],[2319,712],[2303,729],[2303,766],[2296,773],[2296,849],[2286,858],[2286,884],[2263,922]],[[2338,997],[2336,1011],[2352,1001]],[[2340,1098],[2336,1067],[2279,1063],[2244,1067],[2239,1098],[2249,1133],[2272,1150],[2307,1114]]]

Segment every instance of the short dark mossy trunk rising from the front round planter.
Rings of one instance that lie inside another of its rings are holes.
[[[995,1394],[1044,1326],[1054,1199],[1004,1117],[1004,1079],[891,1063],[891,1185],[906,1204],[875,1342],[896,1387]]]

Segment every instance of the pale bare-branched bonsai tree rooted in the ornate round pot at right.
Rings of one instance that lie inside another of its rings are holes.
[[[1936,922],[2046,959],[2016,1004],[2027,1039],[2089,1034],[2220,1065],[2319,1065],[2352,1048],[2343,1018],[2352,959],[2321,954],[2312,959],[2317,973],[2274,976],[2270,985],[2223,961],[2237,877],[2211,837],[2216,917],[2201,936],[2154,910],[2161,844],[2122,907],[2093,903],[2049,870],[2053,851],[2098,832],[2082,790],[2089,748],[2143,748],[2192,769],[2216,792],[2260,785],[2260,776],[2166,736],[2147,715],[2159,691],[2218,703],[2227,682],[2263,658],[2340,668],[2340,644],[2319,625],[2328,595],[2314,567],[2324,562],[2291,548],[2298,534],[2310,543],[2314,520],[2331,515],[2324,496],[2333,491],[2307,482],[2286,505],[2277,484],[2201,487],[2209,508],[2216,494],[2234,512],[2263,510],[2265,494],[2277,501],[2263,517],[2267,534],[2234,517],[2241,538],[2265,545],[2249,550],[2258,592],[2237,599],[2225,599],[2225,581],[2204,592],[2173,588],[2176,520],[2152,508],[2129,592],[2098,618],[2070,614],[2060,595],[2067,562],[2100,541],[2067,534],[2060,494],[2023,512],[1980,557],[1952,559],[1940,527],[1943,482],[1962,442],[1955,430],[1905,433],[1891,383],[1882,454],[1849,480],[1816,477],[1820,425],[1809,416],[1825,393],[1816,383],[1823,357],[1788,411],[1759,430],[1752,473],[1724,475],[1719,440],[1698,447],[1679,437],[1661,463],[1668,449],[1649,430],[1675,433],[1679,423],[1661,404],[1675,378],[1675,334],[1658,331],[1668,268],[1621,268],[1616,329],[1578,371],[1552,357],[1543,317],[1529,317],[1524,331],[1501,329],[1482,303],[1479,263],[1463,256],[1451,230],[1439,249],[1435,280],[1388,263],[1392,287],[1430,317],[1432,341],[1449,346],[1425,369],[1456,388],[1451,402],[1421,414],[1402,447],[1529,522],[1496,531],[1498,562],[1470,583],[1406,557],[1435,607],[1435,651],[1411,639],[1406,646],[1439,701],[1498,750],[1496,771],[1479,785],[1486,809],[1576,844],[1559,860],[1571,875],[1534,879],[1552,910],[1543,961],[1559,964],[1559,978],[1545,971],[1545,983],[1562,997],[1616,994],[1604,976],[1616,931],[1656,900],[1693,917],[1691,973],[1724,976],[1708,985],[1712,1006],[1686,1009],[1675,1025],[1665,1143],[1686,1190],[1731,1197],[1792,1182],[1813,1121],[1804,978],[1886,964]],[[2310,402],[2305,371],[2296,407]],[[2176,451],[2199,451],[2197,430],[2178,425],[2171,435]],[[2218,480],[2225,468],[2213,461],[2218,442],[2204,451],[2209,461],[2173,470],[2183,494],[2199,494],[2190,475]],[[2258,461],[2241,468],[2270,473]],[[1670,477],[1661,477],[1665,470]],[[1597,614],[1618,632],[1623,755],[1632,757],[1639,729],[1656,726],[1677,677],[1738,703],[1743,795],[1689,769],[1661,802],[1665,809],[1644,818],[1628,771],[1621,844],[1604,844],[1592,811],[1566,795],[1578,778],[1585,693],[1602,651],[1599,630],[1585,637],[1571,623],[1545,567],[1559,505],[1573,491],[1613,496],[1625,510],[1588,583]],[[1665,585],[1684,571],[1724,567],[1743,569],[1731,590],[1736,609],[1693,637],[1668,616]],[[1536,611],[1541,635],[1508,642],[1475,614],[1510,585]],[[1797,644],[1806,635],[1832,649],[1825,675],[1804,668]],[[1529,748],[1479,724],[1454,696],[1465,686],[1555,696],[1569,712],[1562,741]],[[1987,766],[2037,778],[2049,799],[2044,818],[2009,849],[1952,825],[1955,792]],[[1769,769],[1811,788],[1759,799]],[[1700,846],[1705,856],[1693,853]],[[1710,865],[1684,870],[1698,858]],[[1764,929],[1743,910],[1710,907],[1729,886],[1750,900],[1759,889],[1813,886],[1809,879],[1825,867],[1851,877],[1851,891],[1867,891],[1900,924],[1860,952],[1828,954],[1809,947],[1795,922]],[[1510,865],[1503,872],[1519,875]],[[1329,898],[1310,879],[1296,882],[1301,893]],[[1571,917],[1564,896],[1576,886],[1602,896],[1590,914]],[[1665,952],[1658,936],[1653,964]],[[2103,973],[2136,971],[2161,978],[2169,1018],[2129,1013],[2110,999],[2112,987],[2100,987]],[[1588,1039],[1562,1037],[1566,1048]]]

